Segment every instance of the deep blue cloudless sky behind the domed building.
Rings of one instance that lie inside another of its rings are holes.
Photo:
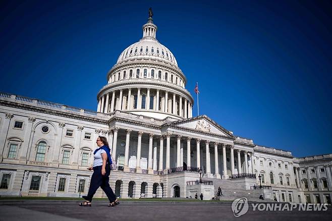
[[[95,111],[150,7],[200,114],[295,156],[332,152],[328,1],[1,1],[0,91]]]

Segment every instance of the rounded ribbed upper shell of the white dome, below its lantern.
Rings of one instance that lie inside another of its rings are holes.
[[[119,56],[117,64],[131,59],[158,59],[178,66],[173,53],[154,38],[142,38],[127,47]]]

